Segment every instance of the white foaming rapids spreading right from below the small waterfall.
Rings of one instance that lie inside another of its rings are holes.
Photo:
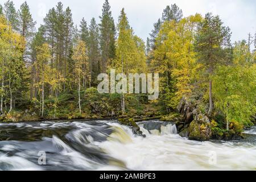
[[[125,126],[122,128],[127,130]],[[106,141],[98,145],[135,170],[256,169],[256,146],[252,144],[188,140],[176,134],[175,125],[161,126],[160,132],[147,131],[142,126],[141,130],[146,138],[129,133],[129,143]]]

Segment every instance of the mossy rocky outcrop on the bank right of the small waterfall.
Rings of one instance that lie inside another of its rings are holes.
[[[202,112],[201,102],[191,98],[182,98],[177,110],[183,116],[183,121],[176,122],[181,137],[191,140],[209,140],[212,137],[210,119]]]

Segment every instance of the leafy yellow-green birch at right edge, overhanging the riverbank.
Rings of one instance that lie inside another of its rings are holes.
[[[256,67],[250,64],[220,66],[213,76],[216,107],[225,114],[226,130],[230,122],[252,126],[256,113]]]

